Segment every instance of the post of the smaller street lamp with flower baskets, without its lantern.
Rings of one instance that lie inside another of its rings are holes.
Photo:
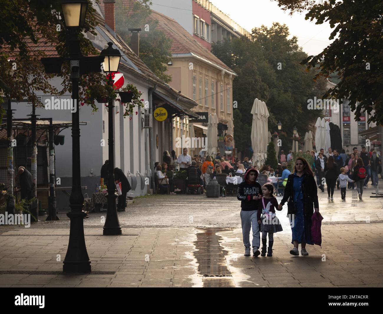
[[[113,79],[109,74],[108,85],[113,85]],[[114,156],[114,132],[113,132],[113,99],[108,102],[108,148],[109,148],[109,173],[108,173],[108,211],[106,212],[106,220],[103,228],[103,235],[120,235],[122,229],[118,221],[117,207],[116,207],[116,182],[114,176],[115,169],[115,156]]]

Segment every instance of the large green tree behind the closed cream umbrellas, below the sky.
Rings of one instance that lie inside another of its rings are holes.
[[[237,74],[233,81],[233,100],[238,103],[234,109],[234,132],[236,146],[244,151],[248,148],[255,98],[264,101],[270,117],[270,132],[277,130],[281,121],[282,130],[288,136],[282,142],[282,149],[292,145],[290,137],[293,127],[298,133],[308,131],[321,110],[308,110],[307,100],[326,91],[324,79],[312,80],[313,74],[305,71],[300,60],[307,56],[297,44],[297,38],[289,39],[286,25],[273,23],[270,28],[262,26],[252,30],[252,39],[245,37],[225,40],[213,44],[212,52]],[[285,143],[286,142],[286,143]]]

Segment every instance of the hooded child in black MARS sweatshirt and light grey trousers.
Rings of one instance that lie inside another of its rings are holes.
[[[259,252],[259,224],[257,220],[258,203],[262,197],[262,189],[255,180],[258,172],[253,169],[247,169],[244,179],[238,187],[237,199],[241,201],[241,224],[242,224],[242,240],[245,246],[245,256],[250,256],[250,229],[253,232],[253,256],[256,257]]]

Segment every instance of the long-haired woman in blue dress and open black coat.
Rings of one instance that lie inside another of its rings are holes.
[[[311,216],[314,208],[319,212],[319,204],[313,171],[302,157],[295,161],[294,173],[288,176],[285,194],[278,207],[282,209],[286,202],[292,232],[291,243],[294,245],[290,254],[298,256],[298,245],[301,244],[301,255],[309,255],[306,244],[314,245],[311,239]]]

